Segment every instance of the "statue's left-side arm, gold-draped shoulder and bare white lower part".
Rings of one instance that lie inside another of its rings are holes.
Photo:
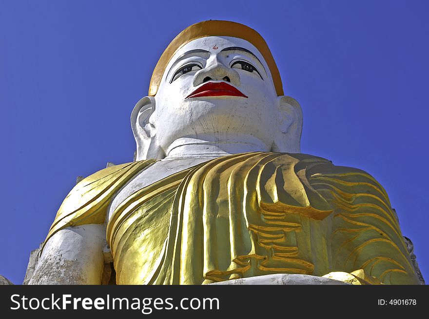
[[[62,202],[30,284],[100,284],[106,212],[115,193],[152,161],[108,167],[80,181]]]

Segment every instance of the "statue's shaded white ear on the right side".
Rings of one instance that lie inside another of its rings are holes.
[[[274,136],[273,152],[300,153],[302,132],[302,110],[291,97],[277,98],[278,130]]]

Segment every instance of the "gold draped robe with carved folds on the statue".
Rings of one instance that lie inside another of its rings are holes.
[[[67,226],[103,223],[114,193],[153,162],[84,179],[48,239]],[[118,284],[357,269],[386,284],[418,283],[383,187],[364,171],[305,154],[228,155],[161,179],[119,204],[107,240]]]

